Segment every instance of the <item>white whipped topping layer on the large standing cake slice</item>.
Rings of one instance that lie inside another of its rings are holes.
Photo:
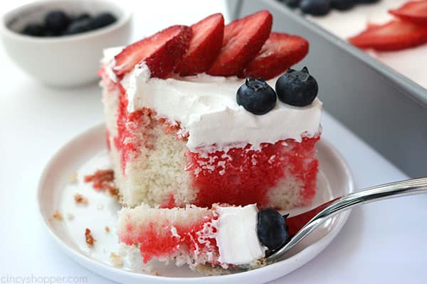
[[[105,50],[104,65],[112,69],[112,56],[120,49]],[[110,59],[109,59],[110,58]],[[110,72],[109,72],[110,74]],[[112,75],[112,80],[117,80]],[[269,80],[275,86],[276,79]],[[307,107],[292,107],[278,100],[275,108],[257,116],[236,102],[236,92],[245,80],[199,74],[150,78],[144,62],[122,79],[127,91],[127,111],[142,107],[154,109],[157,115],[178,121],[189,132],[186,146],[190,151],[216,146],[216,150],[244,146],[259,148],[260,143],[275,143],[288,138],[301,141],[302,136],[315,136],[320,129],[322,102],[315,99]]]

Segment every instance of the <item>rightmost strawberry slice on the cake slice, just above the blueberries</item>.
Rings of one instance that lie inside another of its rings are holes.
[[[297,62],[308,53],[308,42],[297,35],[286,33],[271,33],[258,55],[248,65],[239,77],[263,77],[269,80]]]

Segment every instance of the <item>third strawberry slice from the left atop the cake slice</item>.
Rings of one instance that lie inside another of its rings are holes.
[[[270,35],[273,16],[259,11],[229,23],[224,28],[224,39],[210,75],[238,75],[255,58]]]

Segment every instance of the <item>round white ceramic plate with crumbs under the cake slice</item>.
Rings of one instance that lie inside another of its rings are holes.
[[[292,249],[287,259],[253,271],[203,276],[187,267],[178,268],[173,263],[165,266],[150,261],[144,265],[117,244],[115,224],[120,205],[105,192],[97,192],[90,184],[83,182],[84,175],[92,174],[97,169],[111,168],[104,129],[104,125],[95,126],[56,153],[41,177],[38,205],[46,228],[65,253],[86,268],[119,283],[265,283],[315,258],[330,244],[349,216],[347,211],[328,220]],[[320,141],[317,148],[320,159],[319,190],[312,207],[353,190],[352,175],[337,151],[325,140]],[[75,173],[77,180],[73,179]],[[75,193],[87,197],[88,204],[75,204]],[[290,213],[297,214],[308,209],[310,207],[299,208]],[[56,210],[63,215],[63,221],[53,218]],[[105,231],[105,226],[110,228],[110,232]],[[96,239],[92,249],[85,243],[86,228],[92,231]],[[112,252],[122,256],[122,267],[112,266]]]

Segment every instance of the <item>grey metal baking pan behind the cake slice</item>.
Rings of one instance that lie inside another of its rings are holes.
[[[278,1],[227,2],[233,18],[268,9],[274,31],[307,38],[310,53],[296,67],[317,78],[325,109],[411,177],[427,175],[426,89]]]

